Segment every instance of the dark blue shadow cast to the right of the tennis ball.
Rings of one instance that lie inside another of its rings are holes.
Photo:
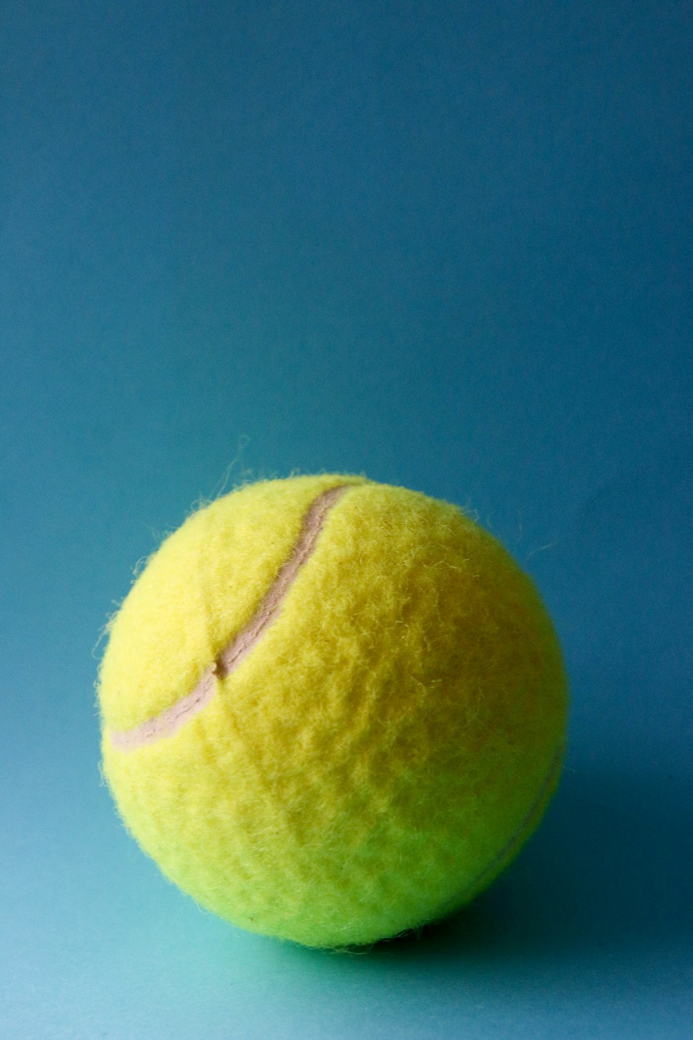
[[[685,778],[566,771],[539,831],[488,891],[369,953],[527,958],[690,941],[690,789]]]

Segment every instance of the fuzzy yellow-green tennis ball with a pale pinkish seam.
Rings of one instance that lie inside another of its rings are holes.
[[[252,932],[372,943],[537,825],[566,680],[539,595],[455,505],[361,476],[189,517],[110,625],[103,772],[163,873]]]

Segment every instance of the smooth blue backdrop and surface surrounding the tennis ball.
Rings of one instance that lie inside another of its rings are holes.
[[[3,5],[0,1035],[690,1035],[691,23]],[[294,470],[476,511],[570,674],[537,835],[368,954],[201,912],[100,785],[134,565]]]

